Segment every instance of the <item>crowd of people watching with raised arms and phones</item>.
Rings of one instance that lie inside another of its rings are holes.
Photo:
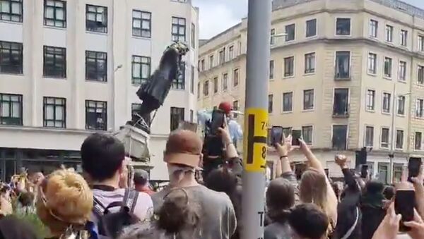
[[[170,183],[154,192],[148,173],[136,170],[134,188],[128,187],[128,161],[122,142],[95,133],[81,146],[83,173],[61,168],[44,177],[28,176],[4,186],[0,197],[0,238],[39,238],[33,226],[16,214],[36,214],[49,234],[45,238],[243,238],[242,159],[227,127],[219,128],[223,164],[198,172],[208,155],[196,133],[175,130],[163,160]],[[290,165],[291,136],[276,144],[277,174],[266,190],[265,239],[395,239],[424,238],[423,172],[413,183],[394,187],[360,178],[348,168],[348,159],[336,156],[344,182],[331,183],[321,162],[300,139],[307,170],[300,180]],[[421,170],[422,171],[422,170]],[[396,214],[397,190],[415,190],[413,220]],[[260,197],[260,195],[258,195]],[[16,205],[13,205],[16,199]],[[408,231],[399,232],[401,226]]]

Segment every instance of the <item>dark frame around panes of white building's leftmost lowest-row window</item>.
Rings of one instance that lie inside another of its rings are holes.
[[[9,99],[6,100],[4,97],[8,97]],[[11,99],[11,97],[18,97],[17,101],[14,101]],[[8,104],[8,116],[3,116],[3,104],[4,102],[7,102]],[[19,117],[12,117],[13,112],[13,103],[18,103],[19,105],[19,111],[18,115]],[[22,94],[8,94],[8,93],[0,93],[0,125],[23,125],[23,95]]]

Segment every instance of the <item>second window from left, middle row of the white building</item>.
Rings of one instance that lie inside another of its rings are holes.
[[[66,49],[44,47],[43,75],[51,78],[66,78]]]

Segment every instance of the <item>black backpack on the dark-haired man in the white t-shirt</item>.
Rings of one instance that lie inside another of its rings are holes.
[[[105,207],[94,197],[93,212],[98,218],[99,238],[117,238],[122,229],[140,221],[134,215],[139,192],[126,189],[122,202],[112,202]],[[118,212],[110,212],[111,208],[121,207]]]

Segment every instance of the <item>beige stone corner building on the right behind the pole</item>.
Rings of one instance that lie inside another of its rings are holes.
[[[372,175],[387,180],[394,118],[399,178],[424,153],[423,26],[424,11],[399,1],[274,1],[269,125],[302,130],[332,176],[341,173],[334,154],[354,165],[367,147]],[[199,109],[225,100],[244,110],[246,47],[247,19],[201,46]]]

